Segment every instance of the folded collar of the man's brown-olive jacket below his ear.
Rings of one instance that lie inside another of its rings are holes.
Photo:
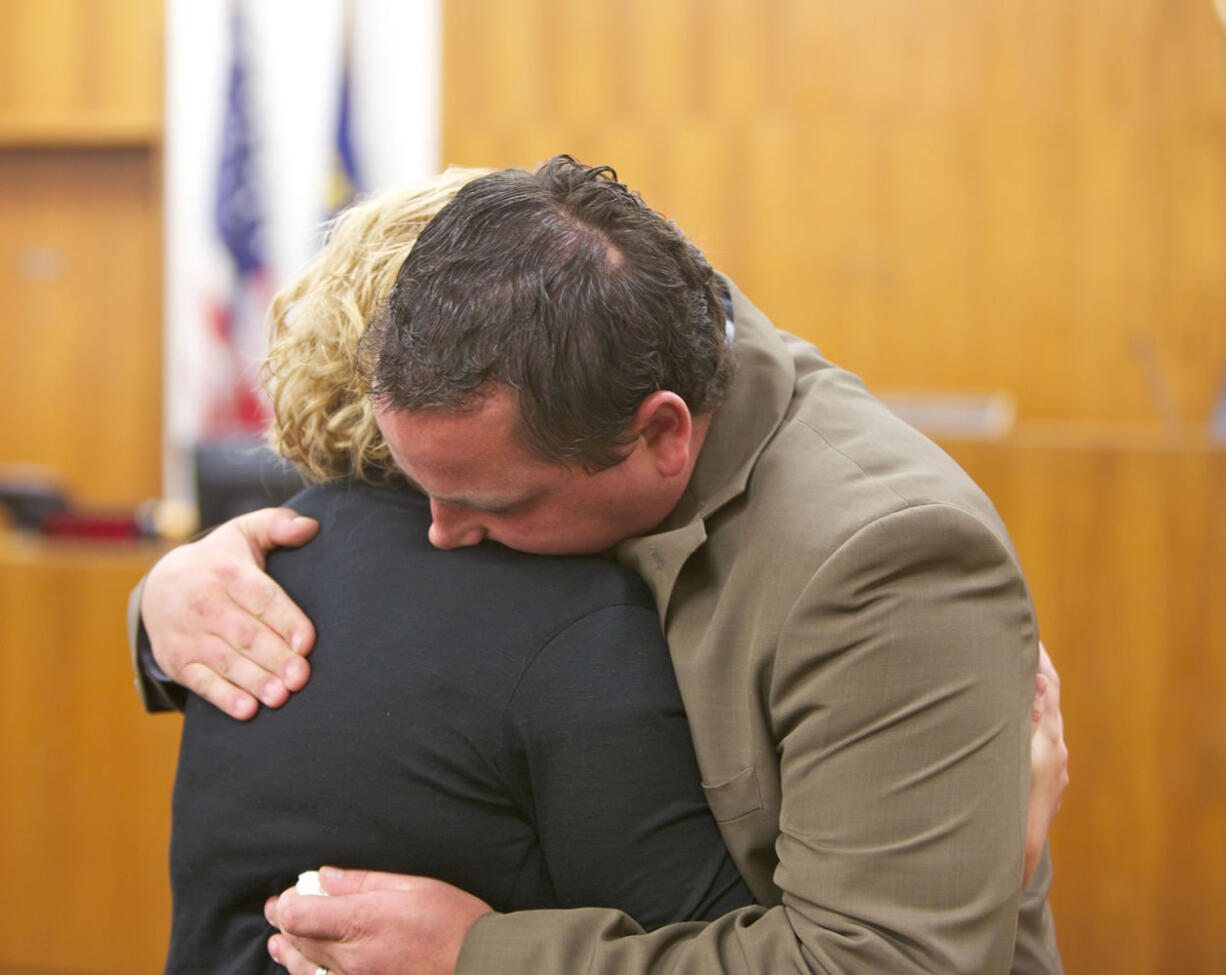
[[[706,541],[705,520],[742,494],[758,457],[783,422],[796,367],[775,326],[732,281],[736,373],[716,408],[682,499],[656,531],[622,542],[617,559],[651,587],[664,619],[685,560]]]

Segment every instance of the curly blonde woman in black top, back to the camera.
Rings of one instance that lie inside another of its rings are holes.
[[[185,705],[168,973],[280,971],[264,904],[321,863],[424,873],[498,910],[647,927],[752,897],[720,838],[650,592],[600,558],[440,552],[354,365],[424,222],[471,178],[346,212],[272,305],[276,449],[319,536],[268,572],[316,627],[310,684],[250,724]]]

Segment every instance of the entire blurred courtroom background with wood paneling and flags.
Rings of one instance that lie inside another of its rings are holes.
[[[1068,971],[1226,971],[1213,0],[0,0],[0,973],[161,970],[178,719],[123,605],[142,503],[259,427],[262,302],[352,191],[555,152],[996,502],[1063,678]]]

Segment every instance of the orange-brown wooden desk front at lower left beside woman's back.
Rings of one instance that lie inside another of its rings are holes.
[[[142,713],[123,619],[156,554],[0,535],[0,970],[162,969],[180,720]]]

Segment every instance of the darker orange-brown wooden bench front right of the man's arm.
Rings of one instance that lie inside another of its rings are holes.
[[[1051,429],[946,446],[1009,526],[1062,676],[1067,970],[1226,970],[1226,450]]]

